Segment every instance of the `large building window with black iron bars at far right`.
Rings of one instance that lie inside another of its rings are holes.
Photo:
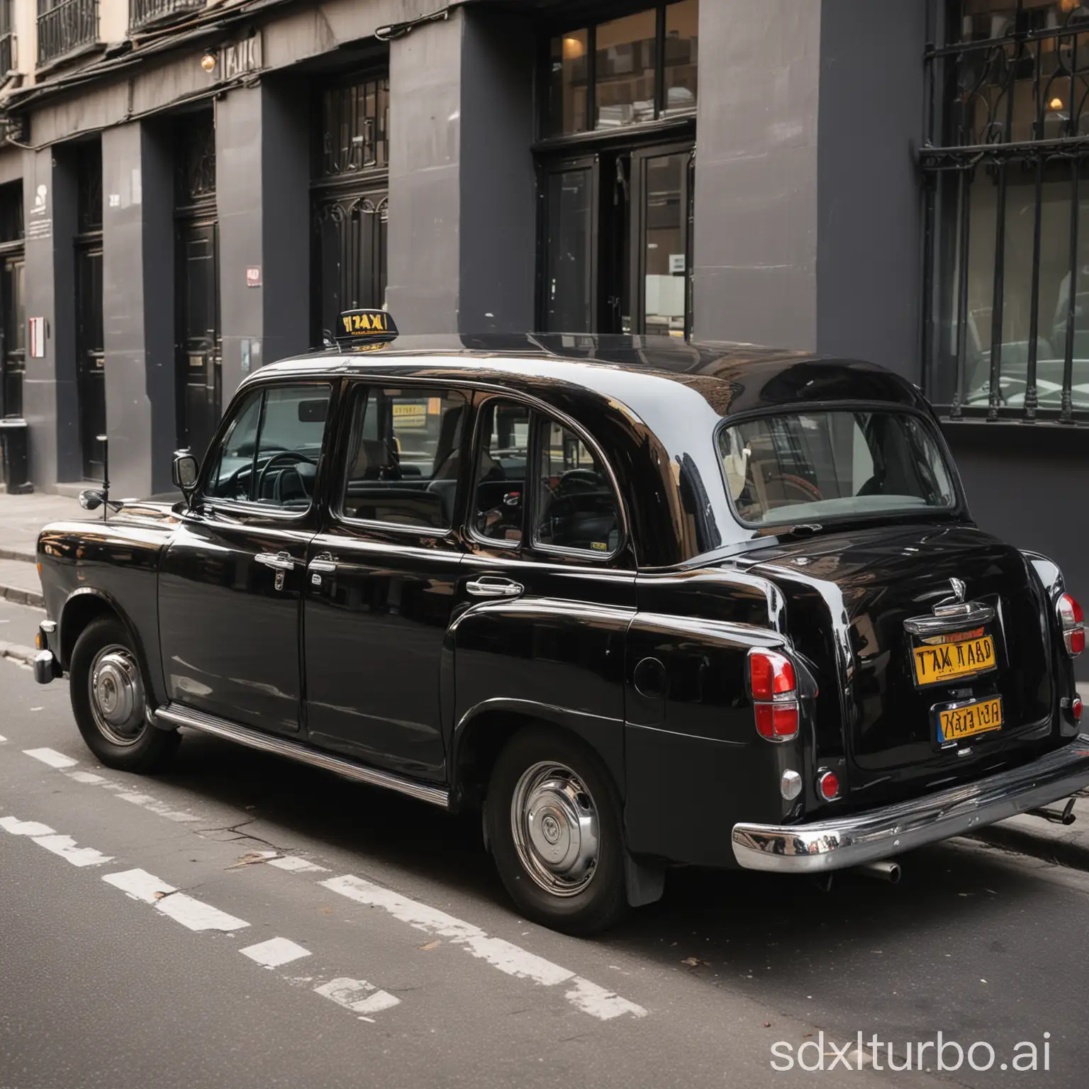
[[[1089,419],[1089,7],[958,0],[927,56],[928,393]]]

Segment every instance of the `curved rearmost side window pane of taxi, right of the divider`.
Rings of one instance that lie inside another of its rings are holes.
[[[574,431],[541,420],[534,540],[552,548],[613,552],[620,510],[601,460]]]

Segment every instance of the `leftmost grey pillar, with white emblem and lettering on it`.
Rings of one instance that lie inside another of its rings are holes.
[[[29,426],[30,480],[50,488],[82,476],[75,359],[76,183],[66,158],[24,152],[26,317],[42,320],[44,355],[27,335],[23,415]]]

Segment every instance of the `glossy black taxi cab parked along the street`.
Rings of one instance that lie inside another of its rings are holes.
[[[678,864],[888,866],[1089,784],[1080,607],[972,523],[878,366],[357,311],[174,479],[39,537],[36,674],[98,759],[203,731],[477,809],[549,926]]]

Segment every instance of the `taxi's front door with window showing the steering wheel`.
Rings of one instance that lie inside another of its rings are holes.
[[[331,395],[328,382],[255,387],[209,450],[159,575],[172,700],[298,731],[301,601]]]

